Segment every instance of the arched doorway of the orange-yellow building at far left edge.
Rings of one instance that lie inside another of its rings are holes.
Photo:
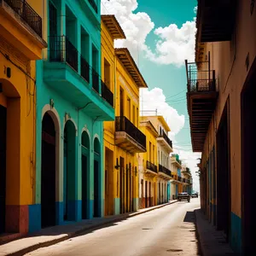
[[[7,79],[0,92],[0,234],[20,232],[20,94]],[[23,127],[22,127],[23,128]],[[6,221],[7,220],[7,221]],[[23,226],[26,225],[25,224]]]

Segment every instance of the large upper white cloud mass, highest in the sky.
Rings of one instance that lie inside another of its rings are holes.
[[[137,6],[137,0],[102,0],[102,14],[115,15],[126,35],[125,40],[116,40],[116,47],[127,47],[135,61],[139,51],[143,51],[150,61],[177,67],[183,65],[185,59],[194,59],[195,19],[185,22],[180,28],[170,24],[154,29],[154,22],[147,13],[134,14]],[[146,38],[153,30],[156,43],[150,49]]]

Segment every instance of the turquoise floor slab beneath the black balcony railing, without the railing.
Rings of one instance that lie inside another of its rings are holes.
[[[98,121],[114,120],[114,109],[65,62],[44,61],[44,82]]]

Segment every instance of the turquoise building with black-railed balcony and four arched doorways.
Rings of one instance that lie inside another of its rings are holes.
[[[46,2],[30,232],[103,216],[102,121],[114,119],[113,93],[101,80],[100,1]]]

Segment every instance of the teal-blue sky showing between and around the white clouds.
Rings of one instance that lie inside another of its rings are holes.
[[[151,20],[154,21],[155,27],[169,26],[172,23],[181,27],[187,20],[193,20],[195,17],[195,0],[138,0],[137,3],[136,12],[146,12],[151,17]],[[147,44],[152,48],[154,47],[154,40],[154,32],[150,32]],[[186,145],[184,148],[189,149],[190,147],[187,146],[190,143],[190,134],[189,116],[185,100],[187,84],[185,67],[176,67],[172,64],[156,65],[143,57],[140,58],[139,66],[143,77],[148,82],[149,89],[153,89],[155,86],[160,87],[164,91],[166,98],[171,96],[166,100],[169,105],[176,108],[178,113],[185,115],[185,125],[177,133],[176,139],[177,143],[180,142],[180,145]],[[181,91],[183,92],[178,94]]]

